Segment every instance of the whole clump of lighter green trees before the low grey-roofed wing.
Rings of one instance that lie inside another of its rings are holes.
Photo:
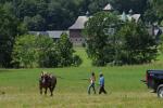
[[[73,53],[66,35],[58,42],[47,36],[24,35],[15,40],[12,65],[17,68],[79,66],[82,59]]]

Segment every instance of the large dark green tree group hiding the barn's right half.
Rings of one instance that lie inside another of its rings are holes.
[[[155,59],[158,44],[141,22],[122,22],[100,12],[86,24],[87,53],[96,66],[143,64]]]

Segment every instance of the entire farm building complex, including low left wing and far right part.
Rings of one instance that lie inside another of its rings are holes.
[[[113,12],[114,9],[109,3],[103,8],[103,11]],[[70,37],[71,42],[74,45],[82,45],[83,43],[85,43],[85,36],[83,33],[83,30],[85,29],[85,24],[89,19],[89,17],[91,17],[91,16],[88,15],[88,12],[85,16],[78,16],[76,22],[71,27],[68,27],[68,30],[29,31],[29,33],[36,35],[36,36],[49,36],[53,40],[58,40],[58,39],[60,39],[60,37],[63,32],[66,32]],[[140,19],[141,15],[140,14],[134,14],[133,10],[129,10],[128,14],[123,12],[121,15],[118,15],[118,17],[123,22],[134,19],[137,23]],[[150,35],[155,36],[155,37],[159,37],[163,31],[163,28],[161,28],[156,25],[148,25],[147,29],[148,29]],[[109,28],[106,30],[108,30],[106,32],[113,32],[114,31],[113,28]],[[109,31],[109,30],[111,30],[111,31]]]

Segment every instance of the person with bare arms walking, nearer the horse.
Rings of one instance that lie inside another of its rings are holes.
[[[96,76],[95,76],[95,72],[91,72],[91,77],[90,77],[89,81],[90,81],[90,84],[88,86],[88,94],[90,94],[91,87],[93,90],[93,93],[96,94],[96,89],[95,89]]]

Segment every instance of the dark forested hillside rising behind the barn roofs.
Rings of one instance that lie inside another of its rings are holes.
[[[131,9],[143,14],[148,0],[1,0],[1,4],[12,9],[12,13],[27,25],[29,30],[67,29],[78,15],[101,11],[108,3],[114,10],[126,13]],[[153,0],[154,1],[154,0]],[[161,1],[161,0],[160,0]],[[160,1],[152,2],[162,10]],[[159,5],[159,6],[158,6]],[[161,13],[161,12],[160,12]],[[34,25],[33,25],[34,24]]]

